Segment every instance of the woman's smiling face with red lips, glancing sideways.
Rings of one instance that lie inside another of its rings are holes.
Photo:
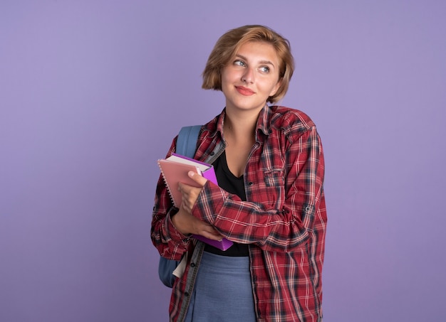
[[[279,57],[273,45],[244,43],[234,60],[222,69],[222,92],[227,109],[259,112],[279,89]]]

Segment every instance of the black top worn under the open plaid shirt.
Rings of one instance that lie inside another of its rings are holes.
[[[226,153],[223,152],[219,158],[212,163],[215,170],[215,175],[217,176],[217,181],[219,187],[227,190],[227,192],[232,193],[234,195],[238,195],[240,199],[243,201],[247,200],[247,195],[244,191],[244,178],[243,176],[236,177],[228,168],[228,164],[226,161]],[[229,247],[229,249],[223,251],[211,245],[207,245],[204,247],[206,252],[212,252],[213,254],[223,255],[223,256],[249,256],[248,245],[247,244],[239,244],[234,242],[234,245]]]

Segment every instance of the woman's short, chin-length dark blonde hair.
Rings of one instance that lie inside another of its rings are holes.
[[[270,43],[279,57],[279,81],[281,85],[276,94],[268,97],[267,102],[281,100],[288,90],[289,81],[294,73],[294,58],[289,41],[271,28],[261,25],[247,25],[224,33],[215,43],[203,71],[204,90],[222,90],[222,68],[235,58],[237,51],[249,41]]]

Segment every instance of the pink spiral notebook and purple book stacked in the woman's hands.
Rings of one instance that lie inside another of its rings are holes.
[[[167,159],[160,159],[157,161],[160,166],[162,178],[164,179],[167,190],[169,191],[170,198],[175,207],[181,205],[181,192],[178,190],[178,183],[185,183],[189,186],[197,186],[197,183],[193,181],[187,173],[194,171],[202,175],[212,183],[217,183],[217,176],[215,176],[214,167],[210,164],[197,161],[195,159],[187,158],[187,156],[180,156],[180,154],[172,154]],[[217,247],[222,250],[226,250],[232,246],[232,242],[223,238],[221,241],[209,240],[206,237],[200,235],[193,235],[197,240],[206,242],[209,245]]]

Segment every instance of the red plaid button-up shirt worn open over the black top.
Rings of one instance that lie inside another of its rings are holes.
[[[195,159],[212,163],[222,153],[223,121],[224,111],[204,125]],[[323,175],[321,139],[311,119],[296,109],[265,107],[244,171],[247,201],[208,181],[192,209],[227,239],[249,244],[257,321],[322,321]],[[204,246],[175,230],[171,209],[160,178],[152,242],[170,259],[189,251],[185,274],[175,282],[170,300],[170,321],[183,321]]]

